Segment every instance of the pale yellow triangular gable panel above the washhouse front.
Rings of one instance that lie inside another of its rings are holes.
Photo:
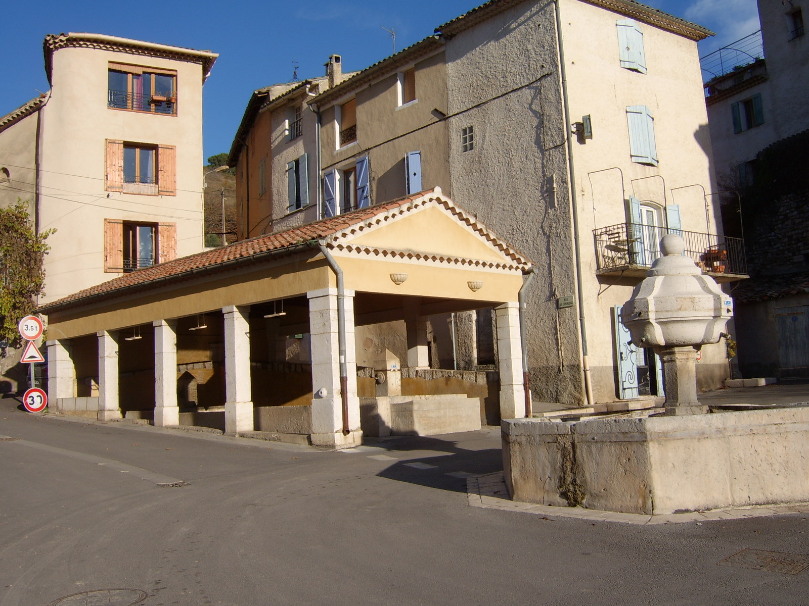
[[[346,240],[346,243],[383,250],[513,263],[466,225],[461,225],[454,217],[434,206],[409,213],[397,221]]]

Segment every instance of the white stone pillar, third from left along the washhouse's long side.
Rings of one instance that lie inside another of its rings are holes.
[[[177,323],[155,320],[155,427],[180,424],[177,405]]]

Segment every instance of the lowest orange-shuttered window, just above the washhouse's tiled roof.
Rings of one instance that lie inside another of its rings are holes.
[[[176,223],[104,219],[104,271],[120,273],[176,259]]]

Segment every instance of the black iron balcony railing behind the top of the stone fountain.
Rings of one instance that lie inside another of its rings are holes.
[[[703,273],[714,276],[718,282],[748,277],[741,238],[640,223],[619,223],[593,230],[597,273],[644,276],[654,260],[661,256],[660,239],[666,234],[682,236],[685,255],[691,257]]]

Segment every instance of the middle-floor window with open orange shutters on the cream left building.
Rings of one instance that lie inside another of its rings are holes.
[[[106,191],[176,196],[174,145],[106,141]]]

